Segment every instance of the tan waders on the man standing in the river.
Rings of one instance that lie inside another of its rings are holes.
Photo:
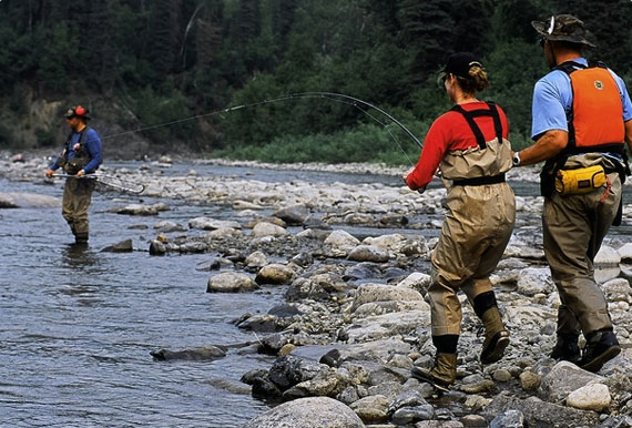
[[[94,181],[73,179],[65,181],[63,187],[62,215],[68,222],[77,243],[86,243],[89,237],[88,208],[92,200]]]

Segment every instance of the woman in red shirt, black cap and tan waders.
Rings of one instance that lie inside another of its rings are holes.
[[[511,237],[516,202],[504,181],[511,167],[507,118],[500,106],[476,98],[489,85],[482,63],[471,53],[455,53],[442,79],[455,106],[435,121],[417,166],[404,179],[411,190],[425,190],[437,170],[452,181],[428,288],[437,356],[430,370],[412,369],[416,378],[448,390],[457,376],[459,289],[485,325],[481,363],[498,361],[509,344],[489,275]]]

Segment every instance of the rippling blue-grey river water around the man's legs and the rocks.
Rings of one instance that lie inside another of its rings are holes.
[[[400,185],[397,177],[369,174],[186,164],[165,174],[191,169],[210,177]],[[0,179],[0,192],[61,197],[62,183]],[[0,426],[237,427],[268,408],[251,397],[239,377],[269,368],[272,357],[235,348],[214,361],[155,361],[150,351],[254,342],[253,333],[232,320],[267,312],[282,300],[283,289],[206,294],[208,273],[196,267],[211,255],[152,257],[147,240],[155,236],[157,220],[108,212],[135,202],[95,193],[91,242],[84,248],[71,245],[60,208],[0,211]],[[186,224],[201,215],[231,215],[225,206],[162,202],[172,211],[161,213],[161,221]],[[143,224],[149,228],[131,227]],[[376,234],[384,233],[389,231]],[[133,240],[134,252],[100,252],[125,238]]]

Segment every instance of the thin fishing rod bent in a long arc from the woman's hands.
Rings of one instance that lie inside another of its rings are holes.
[[[204,114],[197,114],[197,115],[193,115],[190,118],[184,118],[184,119],[180,119],[180,120],[175,120],[175,121],[171,121],[171,122],[165,122],[165,123],[160,123],[160,124],[155,124],[155,125],[151,125],[151,126],[144,126],[144,128],[139,128],[135,130],[131,130],[131,131],[123,131],[123,132],[119,132],[115,134],[110,134],[106,136],[103,136],[102,140],[106,140],[106,139],[112,139],[115,136],[121,136],[121,135],[125,135],[125,134],[131,134],[131,133],[137,133],[137,132],[144,132],[144,131],[150,131],[150,130],[154,130],[154,129],[159,129],[159,128],[164,128],[164,126],[171,126],[174,124],[179,124],[179,123],[183,123],[183,122],[188,122],[188,121],[193,121],[193,120],[198,120],[202,118],[207,118],[207,116],[213,116],[213,115],[217,115],[217,114],[224,114],[224,113],[230,113],[230,112],[234,112],[237,110],[243,110],[243,109],[248,109],[248,108],[254,108],[254,106],[258,106],[258,105],[264,105],[264,104],[269,104],[269,103],[275,103],[275,102],[279,102],[279,101],[286,101],[286,100],[297,100],[297,99],[325,99],[325,100],[329,100],[329,101],[334,101],[334,102],[338,102],[342,104],[346,104],[346,105],[350,105],[355,109],[358,109],[359,111],[361,111],[364,114],[366,114],[367,116],[369,116],[373,121],[375,121],[376,123],[378,123],[379,125],[381,125],[387,132],[388,134],[393,137],[393,140],[397,143],[397,145],[399,146],[399,149],[401,149],[401,151],[404,152],[404,154],[406,155],[406,157],[408,159],[408,161],[414,164],[414,162],[410,160],[410,157],[408,156],[408,153],[406,152],[406,150],[404,149],[404,146],[401,145],[401,143],[399,142],[399,140],[395,136],[395,134],[388,129],[388,123],[385,123],[385,120],[380,120],[378,119],[375,114],[369,113],[369,110],[373,109],[375,111],[377,111],[378,113],[380,113],[384,118],[386,118],[388,121],[390,121],[390,123],[394,123],[395,125],[399,126],[408,136],[410,136],[412,139],[412,141],[415,141],[415,143],[421,149],[424,145],[421,144],[421,142],[419,141],[419,139],[417,139],[417,136],[415,136],[415,134],[408,129],[406,128],[401,122],[399,122],[397,119],[395,119],[391,114],[387,113],[386,111],[384,111],[383,109],[368,103],[364,100],[360,100],[358,98],[355,96],[350,96],[350,95],[346,95],[343,93],[337,93],[337,92],[320,92],[320,91],[312,91],[312,92],[296,92],[296,93],[290,93],[287,95],[282,95],[282,96],[277,96],[277,98],[272,98],[272,99],[266,99],[263,101],[258,101],[258,102],[253,102],[253,103],[247,103],[247,104],[239,104],[239,105],[235,105],[232,108],[227,108],[227,109],[222,109],[222,110],[216,110],[210,113],[204,113]]]

